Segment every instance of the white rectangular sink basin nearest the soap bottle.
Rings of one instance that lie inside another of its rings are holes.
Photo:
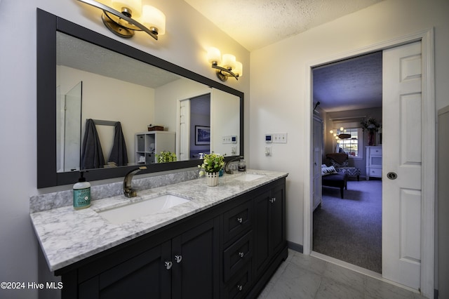
[[[186,202],[189,202],[189,200],[182,197],[177,197],[173,194],[164,194],[145,201],[139,201],[126,206],[118,206],[109,210],[100,211],[98,214],[109,222],[121,224],[145,215],[166,210],[167,208],[173,208],[173,206],[177,206],[179,204],[185,204]]]

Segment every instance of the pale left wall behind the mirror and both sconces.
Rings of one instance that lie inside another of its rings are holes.
[[[215,46],[234,53],[243,62],[245,76],[226,84],[249,99],[248,51],[185,1],[156,4],[167,18],[166,34],[159,41],[143,33],[120,39],[102,25],[101,11],[75,0],[1,0],[0,20],[7,33],[0,42],[0,281],[37,281],[37,242],[29,220],[29,197],[71,188],[36,189],[36,7],[215,81],[215,72],[206,62],[206,49]],[[246,145],[248,148],[248,142]],[[37,298],[37,292],[0,290],[0,297]]]

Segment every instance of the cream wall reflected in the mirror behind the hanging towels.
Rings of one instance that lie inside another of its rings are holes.
[[[154,89],[126,81],[60,66],[57,78],[61,93],[83,81],[81,140],[86,132],[86,119],[120,121],[126,142],[128,162],[135,160],[135,133],[147,131],[154,123]],[[130,102],[133,104],[130,105]],[[139,109],[135,109],[139,107]],[[175,114],[175,113],[174,113]],[[114,126],[96,126],[105,163],[114,144]]]

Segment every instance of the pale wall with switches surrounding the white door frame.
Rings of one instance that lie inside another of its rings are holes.
[[[449,103],[449,1],[387,0],[251,53],[250,167],[287,171],[287,239],[303,240],[304,172],[310,124],[305,111],[307,65],[435,29],[436,108]],[[269,69],[269,72],[266,70]],[[288,144],[264,155],[264,133],[286,132]],[[307,141],[307,142],[306,142]]]

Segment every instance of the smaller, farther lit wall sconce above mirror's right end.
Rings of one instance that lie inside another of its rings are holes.
[[[227,77],[234,77],[239,80],[243,75],[243,65],[236,61],[236,57],[231,54],[220,53],[217,48],[209,48],[208,62],[212,64],[213,69],[217,69],[217,77],[221,81],[226,81]]]

